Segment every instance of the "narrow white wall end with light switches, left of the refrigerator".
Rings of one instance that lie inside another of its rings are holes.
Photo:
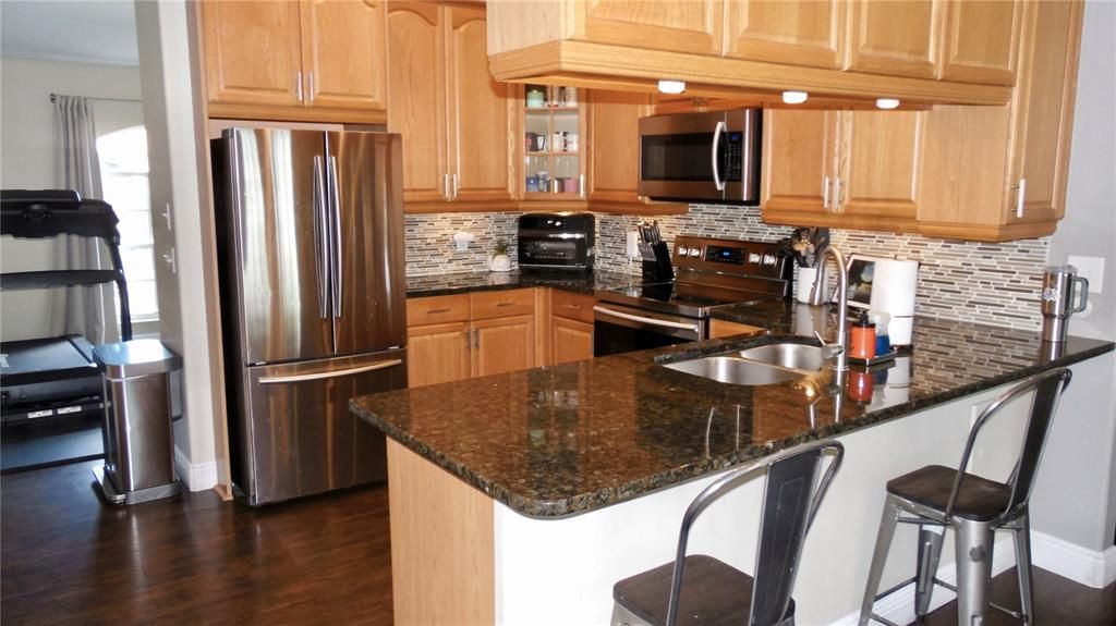
[[[136,2],[144,117],[151,160],[155,258],[173,254],[175,268],[157,262],[163,341],[183,358],[183,414],[175,424],[175,464],[191,490],[217,483],[212,369],[203,276],[206,241],[199,198],[194,85],[191,79],[186,4],[181,0]],[[161,217],[167,211],[170,218]]]

